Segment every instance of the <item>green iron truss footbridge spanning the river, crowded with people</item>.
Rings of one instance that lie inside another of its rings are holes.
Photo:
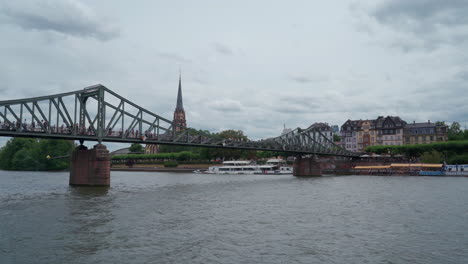
[[[185,129],[100,84],[74,92],[0,101],[0,136],[359,155],[335,145],[313,127],[258,141],[223,139]]]

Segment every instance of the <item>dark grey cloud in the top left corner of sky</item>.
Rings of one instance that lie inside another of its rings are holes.
[[[75,37],[110,40],[119,31],[102,22],[94,12],[78,0],[17,0],[0,5],[5,23],[24,30],[52,31]]]

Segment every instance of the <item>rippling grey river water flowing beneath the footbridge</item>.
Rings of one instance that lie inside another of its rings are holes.
[[[468,263],[468,178],[0,171],[0,263]]]

